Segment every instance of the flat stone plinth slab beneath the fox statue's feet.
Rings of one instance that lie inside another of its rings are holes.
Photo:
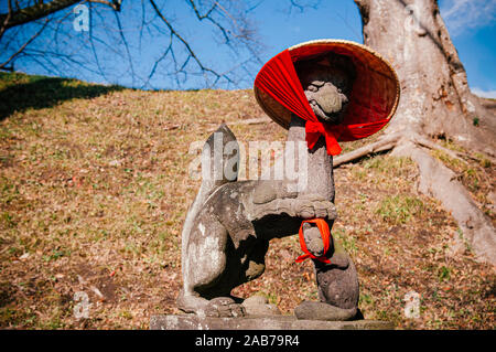
[[[388,321],[298,320],[293,316],[270,318],[208,318],[196,314],[152,316],[150,330],[391,330]]]

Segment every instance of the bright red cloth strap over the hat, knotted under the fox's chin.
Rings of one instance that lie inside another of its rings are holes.
[[[341,125],[330,125],[317,119],[305,97],[293,62],[319,55],[325,51],[328,51],[325,45],[302,46],[291,52],[284,50],[263,65],[255,79],[255,85],[283,107],[306,120],[305,131],[309,149],[315,146],[321,136],[324,136],[327,153],[337,156],[342,150],[337,140],[351,141],[368,137],[380,130],[389,119],[384,118],[387,115],[385,109],[387,100],[381,97],[380,89],[367,81],[370,77],[367,77],[364,65],[358,61],[356,62],[358,63],[356,67],[358,75],[345,121]],[[336,53],[347,54],[354,58],[353,53],[346,52],[344,49]],[[365,111],[358,104],[352,106],[353,99],[367,106],[368,110]]]

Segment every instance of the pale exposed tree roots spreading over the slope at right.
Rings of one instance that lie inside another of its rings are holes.
[[[473,250],[476,260],[496,265],[496,232],[490,220],[477,207],[468,191],[457,181],[456,174],[425,152],[421,146],[445,151],[445,148],[421,136],[393,135],[335,158],[334,166],[391,149],[392,156],[411,158],[419,168],[419,191],[441,201],[443,207],[456,221],[462,233],[461,238],[454,238],[455,242],[464,242],[463,245]]]

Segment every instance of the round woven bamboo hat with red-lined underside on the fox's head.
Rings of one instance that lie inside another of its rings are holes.
[[[263,65],[255,79],[254,89],[258,104],[270,118],[288,129],[291,113],[295,113],[295,108],[276,90],[300,89],[302,93],[303,88],[299,79],[295,79],[298,83],[294,86],[283,83],[282,85],[287,86],[279,89],[278,81],[288,81],[289,76],[295,74],[292,64],[319,57],[328,52],[348,56],[356,71],[344,121],[336,126],[336,139],[349,141],[377,132],[387,125],[398,106],[400,97],[398,76],[392,66],[378,53],[351,41],[324,39],[304,42],[272,57]]]

